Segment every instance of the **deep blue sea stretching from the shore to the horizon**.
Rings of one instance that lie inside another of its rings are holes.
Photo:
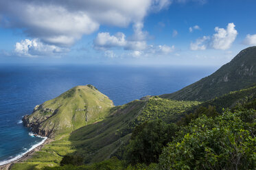
[[[216,67],[0,65],[0,164],[43,140],[23,127],[23,115],[73,86],[93,84],[117,106],[172,93],[214,71]]]

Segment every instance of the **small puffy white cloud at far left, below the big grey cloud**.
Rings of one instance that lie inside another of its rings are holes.
[[[36,56],[58,56],[65,53],[66,48],[56,47],[55,45],[46,45],[38,39],[25,39],[16,42],[15,52],[19,56],[36,57]]]

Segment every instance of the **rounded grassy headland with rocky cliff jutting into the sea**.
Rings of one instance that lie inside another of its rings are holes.
[[[94,86],[75,86],[36,106],[23,123],[39,135],[53,137],[103,119],[112,107],[113,101]]]

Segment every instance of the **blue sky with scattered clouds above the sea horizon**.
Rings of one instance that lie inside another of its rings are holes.
[[[1,64],[221,66],[256,45],[255,0],[1,0]]]

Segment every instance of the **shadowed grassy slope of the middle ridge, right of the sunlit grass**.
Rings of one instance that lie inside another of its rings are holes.
[[[110,158],[115,151],[130,139],[130,124],[135,119],[143,102],[134,101],[124,107],[117,106],[113,114],[103,121],[80,127],[69,136],[75,154],[84,157],[84,162],[99,162]]]

